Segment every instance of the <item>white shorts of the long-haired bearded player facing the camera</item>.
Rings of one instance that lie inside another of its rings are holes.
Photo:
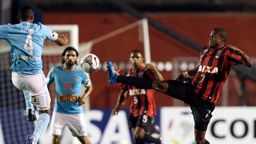
[[[85,116],[83,113],[64,114],[53,111],[50,133],[61,136],[62,130],[65,126],[68,126],[69,130],[72,132],[72,135],[75,137],[87,136]]]

